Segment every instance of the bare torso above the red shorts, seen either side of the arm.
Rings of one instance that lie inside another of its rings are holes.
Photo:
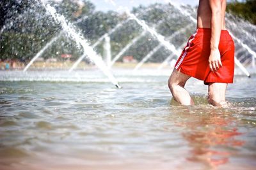
[[[225,10],[226,10],[226,0],[221,1],[221,29],[226,29],[225,27]],[[209,0],[200,0],[197,10],[197,27],[201,28],[211,28],[211,8]]]

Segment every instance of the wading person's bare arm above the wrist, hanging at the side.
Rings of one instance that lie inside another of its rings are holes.
[[[218,49],[221,35],[221,4],[220,0],[209,0],[211,6],[211,50]]]

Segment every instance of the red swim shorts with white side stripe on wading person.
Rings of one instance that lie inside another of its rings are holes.
[[[220,55],[222,67],[212,72],[209,67],[211,29],[198,28],[182,51],[175,64],[181,73],[209,83],[233,83],[234,78],[234,41],[227,30],[221,30]]]

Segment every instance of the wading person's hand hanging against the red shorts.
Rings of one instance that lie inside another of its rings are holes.
[[[211,71],[218,71],[218,69],[222,67],[222,63],[220,60],[220,51],[218,49],[211,50],[211,53],[209,56],[209,66]]]

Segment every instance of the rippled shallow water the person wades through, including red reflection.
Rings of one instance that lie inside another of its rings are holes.
[[[230,108],[178,106],[170,71],[0,71],[0,169],[254,169],[256,78],[228,85]]]

